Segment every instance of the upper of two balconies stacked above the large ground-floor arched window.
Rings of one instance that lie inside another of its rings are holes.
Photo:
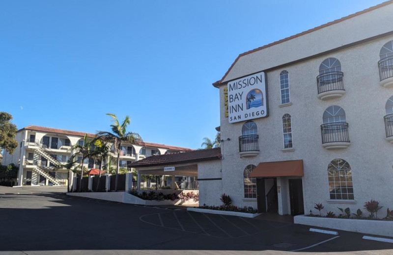
[[[328,100],[342,97],[345,93],[342,72],[329,72],[316,77],[318,98]]]

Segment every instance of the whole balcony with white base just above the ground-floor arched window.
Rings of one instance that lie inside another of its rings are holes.
[[[351,145],[346,122],[322,124],[321,134],[322,146],[325,149],[345,149]]]

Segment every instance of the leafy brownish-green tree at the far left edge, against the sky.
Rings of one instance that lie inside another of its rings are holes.
[[[18,142],[15,139],[16,125],[11,123],[12,115],[6,112],[0,112],[0,148],[7,150],[8,153],[14,153]]]

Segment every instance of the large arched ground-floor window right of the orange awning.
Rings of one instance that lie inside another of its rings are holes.
[[[348,162],[336,158],[328,166],[330,199],[354,199],[352,170]]]

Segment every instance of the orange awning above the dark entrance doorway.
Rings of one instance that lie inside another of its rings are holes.
[[[259,163],[250,177],[303,176],[303,160]]]

